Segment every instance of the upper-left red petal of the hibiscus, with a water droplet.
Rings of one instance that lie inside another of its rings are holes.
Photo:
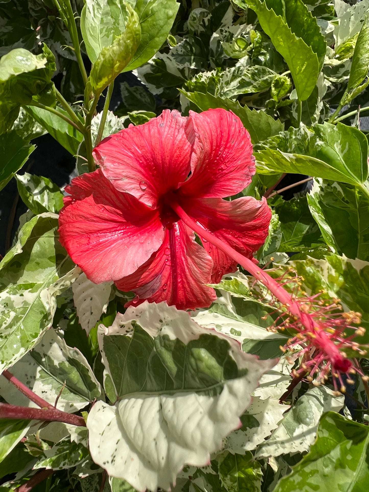
[[[156,207],[160,196],[177,189],[190,171],[186,122],[178,111],[167,109],[145,124],[105,138],[93,155],[117,190]]]

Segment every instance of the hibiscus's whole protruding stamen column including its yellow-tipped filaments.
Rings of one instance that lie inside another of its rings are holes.
[[[315,294],[310,298],[297,299],[297,291],[291,295],[283,288],[283,285],[291,283],[291,279],[283,281],[282,285],[278,283],[277,280],[255,265],[252,260],[236,251],[232,246],[205,229],[199,222],[195,222],[189,217],[181,207],[175,194],[169,197],[168,203],[184,223],[198,234],[202,240],[211,243],[234,259],[269,290],[272,294],[272,302],[273,298],[276,299],[277,304],[279,304],[277,310],[279,312],[282,311],[283,315],[287,316],[287,319],[278,326],[271,327],[271,330],[288,329],[289,332],[296,333],[295,337],[288,340],[286,346],[283,347],[283,351],[294,351],[298,357],[303,356],[304,363],[299,371],[295,371],[295,377],[302,379],[307,375],[307,379],[312,380],[314,376],[317,376],[314,383],[321,384],[328,379],[327,374],[329,370],[332,370],[336,378],[338,378],[341,391],[344,391],[345,385],[343,384],[341,373],[361,373],[360,369],[354,367],[347,355],[342,351],[342,349],[351,348],[359,351],[359,353],[364,353],[364,351],[360,350],[358,343],[351,341],[353,337],[365,333],[364,328],[351,326],[351,323],[357,324],[360,322],[360,313],[353,311],[348,313],[337,312],[340,308],[338,300],[334,300],[333,303],[319,300],[321,293]],[[299,277],[294,280],[301,284]],[[279,319],[280,316],[278,316],[277,320]],[[346,329],[352,329],[355,332],[351,337],[344,338]],[[324,366],[319,369],[322,364]],[[335,378],[334,386],[337,389]]]

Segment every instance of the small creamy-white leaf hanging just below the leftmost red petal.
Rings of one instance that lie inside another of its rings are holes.
[[[113,282],[93,283],[82,273],[72,286],[80,325],[87,334],[106,310]]]

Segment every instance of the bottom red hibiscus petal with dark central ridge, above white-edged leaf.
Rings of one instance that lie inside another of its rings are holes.
[[[213,261],[205,249],[194,242],[194,233],[182,222],[166,231],[160,249],[129,277],[116,281],[120,290],[132,290],[139,297],[128,305],[166,301],[178,309],[209,307],[216,299],[210,283]]]

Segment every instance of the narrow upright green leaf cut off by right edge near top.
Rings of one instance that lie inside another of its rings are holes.
[[[369,28],[367,20],[363,23],[363,27],[356,41],[354,55],[352,57],[350,77],[347,84],[347,92],[352,92],[365,79],[368,74],[369,66]]]

